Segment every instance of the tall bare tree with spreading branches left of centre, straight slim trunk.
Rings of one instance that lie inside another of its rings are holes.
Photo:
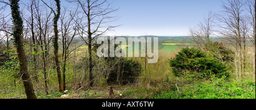
[[[93,86],[92,74],[92,46],[93,41],[99,36],[104,35],[108,30],[117,26],[110,26],[107,23],[114,21],[115,17],[109,16],[117,9],[110,7],[107,0],[76,0],[79,4],[82,16],[76,20],[77,32],[81,39],[88,46],[89,52],[89,85]]]

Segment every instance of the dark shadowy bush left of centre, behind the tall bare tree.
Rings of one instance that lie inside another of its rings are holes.
[[[142,66],[137,61],[127,58],[98,58],[93,54],[93,78],[94,85],[118,84],[127,85],[135,83],[139,74],[142,72]],[[76,68],[81,68],[88,76],[88,58],[83,58],[81,64]]]

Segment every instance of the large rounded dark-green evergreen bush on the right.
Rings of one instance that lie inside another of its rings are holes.
[[[195,48],[182,49],[174,59],[170,60],[170,65],[177,77],[209,79],[213,74],[217,78],[229,77],[225,64]]]

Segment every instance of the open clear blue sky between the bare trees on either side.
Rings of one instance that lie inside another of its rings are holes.
[[[221,0],[114,0],[114,15],[122,24],[110,36],[187,36],[209,11],[221,10]]]

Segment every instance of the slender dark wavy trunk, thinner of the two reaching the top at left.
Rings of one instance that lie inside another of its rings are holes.
[[[54,19],[53,19],[53,30],[54,30],[53,47],[54,47],[57,77],[58,77],[58,82],[59,82],[59,92],[63,93],[63,91],[64,91],[63,90],[63,82],[61,80],[60,64],[59,64],[59,56],[58,56],[59,45],[58,45],[58,27],[57,27],[57,22],[60,17],[60,1],[55,0],[55,2],[56,2],[56,6],[57,6],[57,14],[55,14]]]

